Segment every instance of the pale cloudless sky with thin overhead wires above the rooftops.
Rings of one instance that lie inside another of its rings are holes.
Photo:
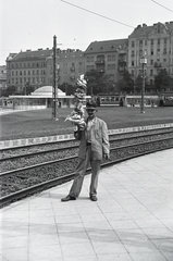
[[[163,5],[163,7],[162,7]],[[91,41],[127,38],[139,24],[173,21],[173,0],[0,0],[0,65],[9,53],[85,51]]]

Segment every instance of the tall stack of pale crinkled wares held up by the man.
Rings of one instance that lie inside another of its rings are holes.
[[[86,96],[87,82],[84,79],[84,74],[77,79],[77,89],[74,92],[75,108],[65,121],[71,121],[79,125],[81,129],[85,127],[85,111],[83,102]]]

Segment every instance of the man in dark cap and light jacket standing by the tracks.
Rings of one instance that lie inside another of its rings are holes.
[[[86,103],[86,111],[88,113],[86,127],[81,129],[78,125],[77,129],[74,132],[74,137],[81,140],[78,151],[79,162],[70,192],[65,198],[61,199],[63,202],[75,200],[79,196],[89,163],[91,165],[89,197],[91,201],[97,201],[98,175],[101,160],[103,157],[109,159],[110,145],[108,127],[104,121],[96,116],[95,100],[89,100]]]

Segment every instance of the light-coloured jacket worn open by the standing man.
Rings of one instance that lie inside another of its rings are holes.
[[[86,156],[86,129],[74,132],[74,137],[81,140],[78,158],[85,159]],[[103,154],[110,153],[108,127],[104,121],[99,117],[94,119],[91,126],[91,151],[92,160],[102,160]]]

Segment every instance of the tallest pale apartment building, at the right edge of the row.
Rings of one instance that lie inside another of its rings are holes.
[[[128,36],[127,67],[134,79],[141,74],[143,55],[147,58],[145,75],[150,86],[160,69],[165,69],[173,77],[173,22],[138,25]]]

